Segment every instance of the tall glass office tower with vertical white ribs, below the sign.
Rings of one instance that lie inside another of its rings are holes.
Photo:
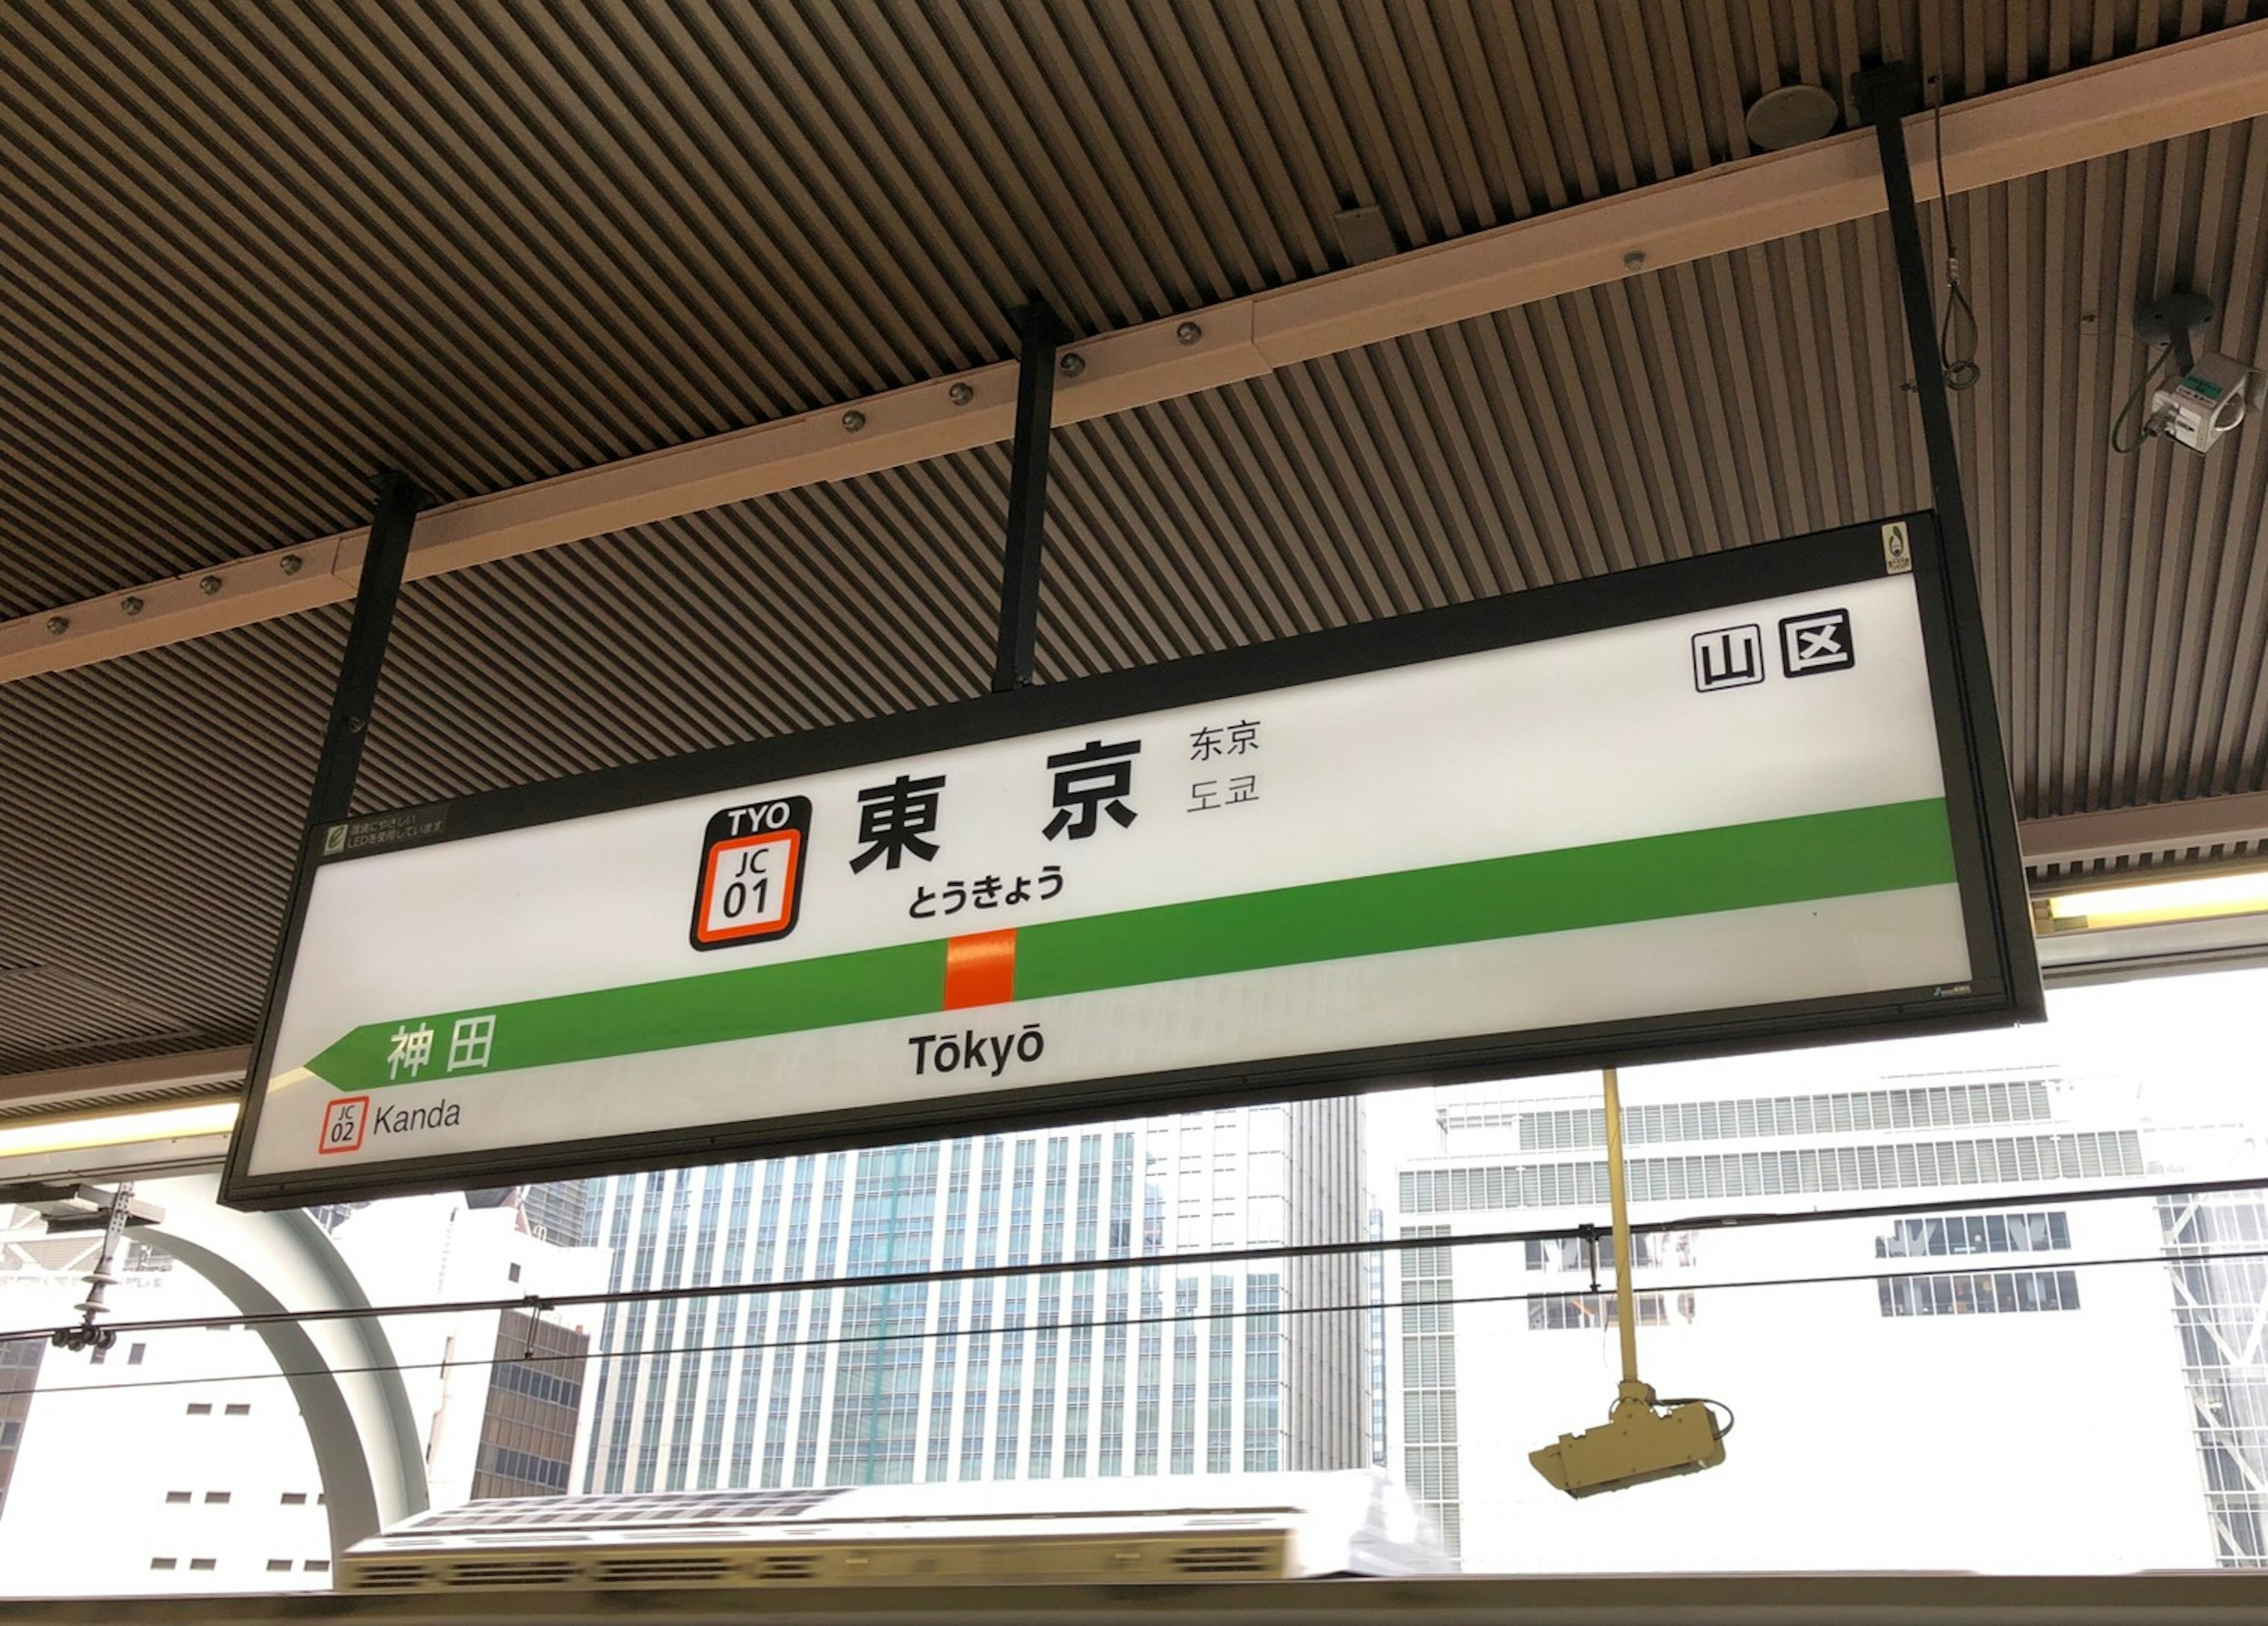
[[[1095,1268],[608,1306],[576,1485],[1361,1465],[1361,1261],[1175,1263],[1361,1234],[1349,1100],[624,1175],[631,1293]]]

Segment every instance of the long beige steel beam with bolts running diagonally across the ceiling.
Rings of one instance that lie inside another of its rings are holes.
[[[1955,193],[2268,116],[2268,20],[2064,73],[1944,113]],[[1914,125],[1923,163],[1930,127]],[[1935,179],[1935,177],[1932,177]],[[1658,186],[1517,220],[1073,345],[1057,424],[1152,406],[1318,356],[1730,254],[1882,213],[1871,132],[1719,163]],[[1007,440],[1016,363],[649,451],[420,517],[411,581],[723,503]],[[177,644],[354,596],[367,531],[0,624],[0,683]],[[134,610],[127,610],[134,603]]]

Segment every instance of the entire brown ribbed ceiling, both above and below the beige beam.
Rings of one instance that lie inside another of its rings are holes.
[[[0,9],[0,615],[1744,156],[1860,52],[1950,95],[2227,7]],[[2166,11],[2166,16],[2159,16]],[[2125,317],[2268,317],[2268,125],[1953,200],[2025,816],[2268,789],[2268,469],[2112,456]],[[1932,211],[1932,238],[1935,238]],[[1059,680],[1926,503],[1860,222],[1059,431]],[[386,807],[982,689],[1002,447],[413,583]],[[0,1073],[240,1043],[345,610],[0,685]],[[2161,855],[2193,857],[2193,855]]]

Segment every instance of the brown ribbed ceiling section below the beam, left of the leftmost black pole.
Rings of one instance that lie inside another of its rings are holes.
[[[243,1043],[345,626],[0,685],[0,1073]]]

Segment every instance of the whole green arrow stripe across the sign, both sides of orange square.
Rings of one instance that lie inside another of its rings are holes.
[[[1953,878],[1941,798],[1853,807],[1027,925],[1016,932],[1016,998],[1939,887]],[[943,1002],[946,943],[937,939],[370,1023],[308,1070],[342,1091],[469,1082],[925,1016]],[[492,1025],[483,1027],[485,1018]],[[413,1073],[399,1052],[420,1030],[431,1048]]]

